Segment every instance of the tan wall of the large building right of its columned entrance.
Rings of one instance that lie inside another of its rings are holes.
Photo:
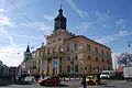
[[[74,46],[75,44],[77,44],[76,50]],[[88,48],[87,44],[90,45],[90,50]],[[67,46],[69,46],[68,52]],[[96,52],[95,48],[98,48],[98,52]],[[109,55],[107,55],[107,52]],[[64,62],[64,72],[67,74],[100,73],[105,69],[112,69],[110,48],[84,36],[78,36],[65,42]],[[76,65],[78,66],[77,73]],[[68,72],[68,66],[70,67],[70,72]]]

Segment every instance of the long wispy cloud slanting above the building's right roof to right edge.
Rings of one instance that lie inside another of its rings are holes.
[[[118,38],[125,36],[125,35],[132,35],[132,33],[129,33],[127,31],[119,31],[119,33],[117,33],[117,34],[108,35],[106,37],[101,37],[101,38],[96,40],[96,41],[100,42],[100,43],[109,43],[109,42],[112,42],[112,41],[118,40]]]

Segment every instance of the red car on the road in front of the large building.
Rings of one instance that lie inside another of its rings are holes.
[[[44,79],[40,79],[38,84],[41,86],[44,86],[44,85],[59,85],[61,79],[59,79],[59,76],[46,76],[46,77],[44,77]]]

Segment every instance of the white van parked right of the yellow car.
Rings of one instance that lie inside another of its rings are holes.
[[[116,73],[113,70],[103,70],[100,75],[100,78],[113,78]]]

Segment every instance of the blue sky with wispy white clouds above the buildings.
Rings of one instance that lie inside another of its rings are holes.
[[[0,61],[18,66],[28,43],[34,51],[54,30],[63,6],[67,31],[111,48],[112,57],[132,53],[132,0],[0,0]]]

